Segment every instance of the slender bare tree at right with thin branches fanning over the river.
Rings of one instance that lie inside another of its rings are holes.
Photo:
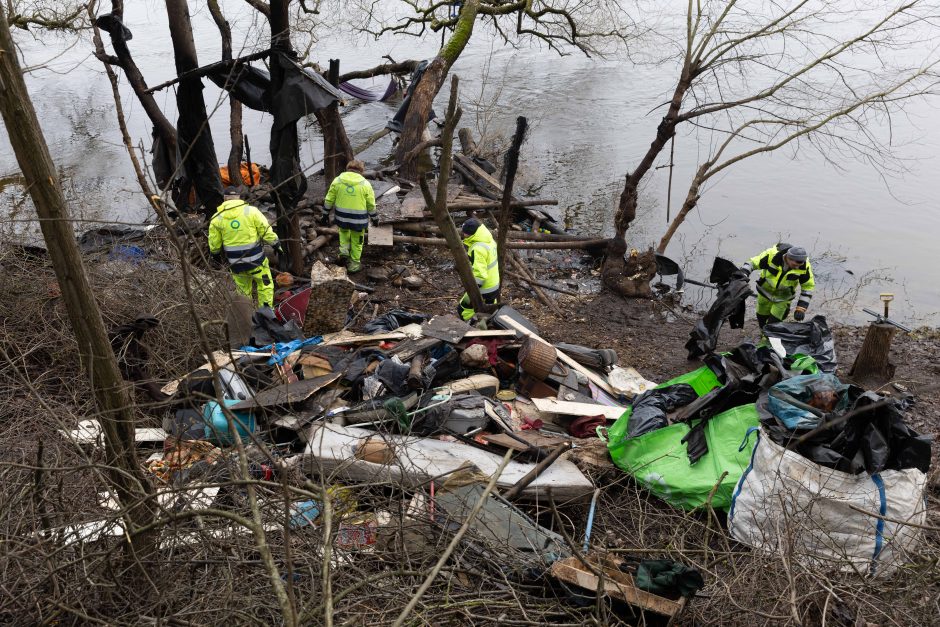
[[[650,46],[680,51],[679,76],[649,149],[626,175],[605,283],[616,289],[639,185],[684,123],[708,133],[712,146],[660,252],[696,206],[702,185],[743,159],[807,145],[827,156],[841,151],[883,162],[890,146],[875,127],[935,83],[935,57],[911,60],[904,53],[923,45],[935,10],[924,0],[887,7],[690,0],[681,32],[664,32],[666,41]]]

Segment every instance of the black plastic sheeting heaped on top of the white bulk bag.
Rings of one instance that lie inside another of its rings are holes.
[[[826,416],[831,421],[846,413],[883,400],[875,392],[849,386],[847,409]],[[768,409],[767,395],[757,402],[761,424],[780,446],[790,446],[810,430],[790,430]],[[827,468],[849,474],[863,471],[875,474],[883,470],[930,469],[932,439],[911,429],[904,422],[904,412],[913,405],[910,397],[896,399],[881,407],[852,416],[842,424],[821,431],[795,450],[803,457]],[[842,405],[842,403],[840,403]]]

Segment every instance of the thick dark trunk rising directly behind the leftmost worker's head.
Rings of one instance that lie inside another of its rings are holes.
[[[199,67],[189,6],[186,0],[166,0],[166,12],[170,38],[173,40],[176,73],[182,75]],[[206,115],[202,80],[193,77],[181,79],[176,91],[176,105],[179,110],[177,132],[183,167],[196,190],[197,202],[202,204],[203,213],[209,219],[222,204],[222,180],[219,178],[219,159],[215,154],[209,117]]]

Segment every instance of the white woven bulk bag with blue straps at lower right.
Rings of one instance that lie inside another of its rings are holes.
[[[735,540],[869,575],[889,574],[907,560],[919,530],[890,520],[924,523],[927,475],[916,468],[850,475],[781,447],[763,429],[757,437],[728,513]]]

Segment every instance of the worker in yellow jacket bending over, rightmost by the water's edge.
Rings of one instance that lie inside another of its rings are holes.
[[[768,322],[786,319],[797,288],[800,299],[793,310],[793,319],[801,322],[806,317],[806,309],[816,287],[806,249],[777,244],[748,259],[741,269],[748,275],[754,270],[760,271],[757,279],[757,324],[762,329]]]

